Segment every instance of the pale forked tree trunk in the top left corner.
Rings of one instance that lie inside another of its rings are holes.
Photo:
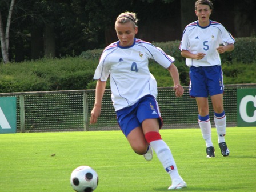
[[[3,55],[3,63],[9,63],[9,30],[11,25],[11,15],[13,14],[13,6],[14,6],[15,0],[11,0],[10,9],[7,17],[6,22],[6,30],[5,33],[3,31],[3,22],[2,22],[2,16],[0,11],[0,41],[1,41],[1,50]]]

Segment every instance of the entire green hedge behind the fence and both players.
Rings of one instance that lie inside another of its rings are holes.
[[[224,53],[222,70],[225,84],[256,82],[256,38],[237,38],[235,50]],[[189,85],[189,67],[181,57],[180,41],[153,43],[175,58],[181,83]],[[0,64],[0,93],[22,91],[53,91],[95,89],[94,71],[103,49],[89,50],[81,57],[26,61],[22,63]],[[149,69],[157,79],[159,87],[173,86],[170,74],[154,61]],[[107,88],[109,88],[107,82]]]

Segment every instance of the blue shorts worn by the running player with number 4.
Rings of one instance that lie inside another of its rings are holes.
[[[163,125],[157,100],[152,95],[146,95],[130,107],[116,111],[117,121],[123,134],[127,137],[136,127],[141,127],[145,119],[159,119],[159,129]]]

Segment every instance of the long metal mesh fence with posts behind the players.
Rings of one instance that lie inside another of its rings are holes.
[[[256,83],[225,86],[227,126],[237,126],[237,89],[245,88],[256,88]],[[173,87],[158,88],[162,129],[198,127],[197,103],[189,97],[189,87],[184,89],[184,95],[177,98]],[[96,125],[89,124],[95,90],[0,93],[0,97],[17,97],[17,132],[119,130],[109,89],[103,96],[101,116]],[[214,126],[210,99],[209,107]]]

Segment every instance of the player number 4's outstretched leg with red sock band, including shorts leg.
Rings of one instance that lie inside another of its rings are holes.
[[[158,103],[152,96],[146,96],[139,103],[137,117],[141,122],[143,133],[147,143],[154,149],[164,169],[169,173],[172,186],[170,189],[186,187],[186,183],[179,176],[177,166],[169,146],[162,140],[159,129],[162,127],[162,118],[159,112]]]

